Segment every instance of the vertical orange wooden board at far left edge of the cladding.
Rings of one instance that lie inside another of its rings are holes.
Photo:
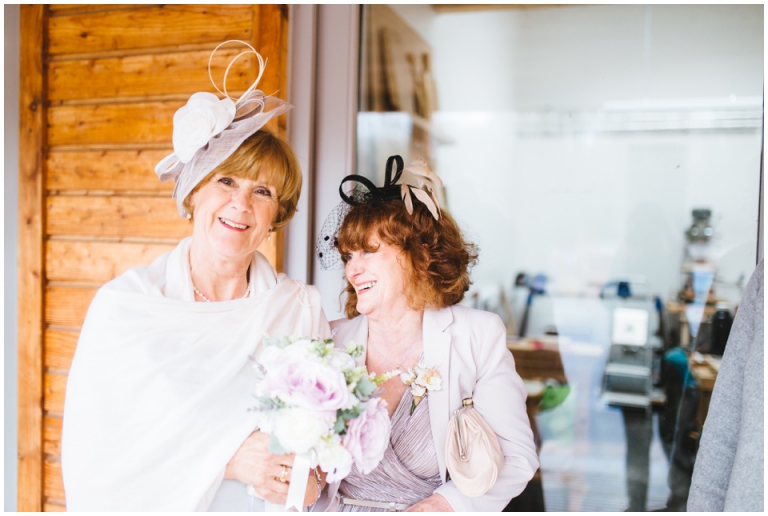
[[[42,509],[44,5],[21,6],[19,106],[19,511]]]

